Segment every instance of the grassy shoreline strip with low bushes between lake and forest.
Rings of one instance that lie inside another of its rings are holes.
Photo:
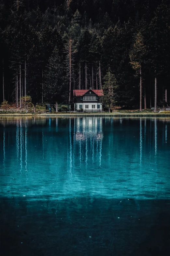
[[[58,105],[58,109],[60,110],[61,106]],[[26,113],[24,108],[16,108],[15,104],[8,104],[7,109],[1,109],[0,108],[0,115],[1,116],[32,116],[32,115],[38,115],[38,116],[80,116],[80,115],[88,115],[88,116],[94,116],[94,115],[100,115],[100,116],[170,116],[170,111],[162,111],[162,112],[154,112],[154,110],[146,109],[140,111],[139,109],[125,109],[121,107],[114,107],[111,109],[112,112],[72,112],[72,111],[59,111],[58,113],[55,112],[55,110],[52,108],[51,113],[49,113],[49,110],[46,111],[46,105],[45,104],[38,104],[36,105],[36,112],[34,113],[34,109],[30,109],[28,113]]]

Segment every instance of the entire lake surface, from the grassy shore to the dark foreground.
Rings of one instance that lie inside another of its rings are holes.
[[[1,255],[170,249],[170,119],[0,117]]]

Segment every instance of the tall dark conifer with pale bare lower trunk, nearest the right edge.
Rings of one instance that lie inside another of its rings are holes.
[[[148,59],[151,64],[152,74],[155,81],[155,109],[157,111],[158,78],[169,73],[169,43],[170,43],[170,13],[167,6],[162,2],[155,12],[155,17],[149,25],[150,38],[148,42]],[[161,47],[160,47],[161,46]],[[164,85],[163,85],[164,86]]]

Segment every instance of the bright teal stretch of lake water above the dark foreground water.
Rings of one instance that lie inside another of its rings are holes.
[[[0,121],[2,196],[170,198],[169,120]]]

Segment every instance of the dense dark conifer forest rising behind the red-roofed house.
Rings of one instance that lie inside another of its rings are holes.
[[[1,102],[69,103],[92,87],[111,105],[168,104],[169,1],[1,0],[0,24]]]

